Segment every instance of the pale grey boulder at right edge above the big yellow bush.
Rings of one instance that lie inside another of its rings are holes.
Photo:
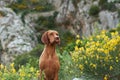
[[[119,22],[117,12],[101,11],[99,13],[99,19],[103,29],[114,28]]]

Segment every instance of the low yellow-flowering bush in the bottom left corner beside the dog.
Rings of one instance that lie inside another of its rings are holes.
[[[21,66],[18,71],[14,68],[14,63],[9,66],[0,65],[0,80],[37,80],[39,71],[29,64]]]

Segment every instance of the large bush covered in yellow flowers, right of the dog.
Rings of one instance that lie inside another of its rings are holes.
[[[102,80],[120,74],[120,35],[106,32],[80,40],[77,36],[72,60],[80,73],[99,77]]]

